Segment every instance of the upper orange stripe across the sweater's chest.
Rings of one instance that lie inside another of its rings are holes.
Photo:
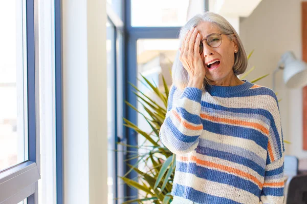
[[[264,132],[265,134],[269,135],[269,130],[267,128],[265,128],[264,126],[258,124],[258,123],[252,123],[252,122],[247,122],[247,121],[242,121],[242,120],[237,120],[237,119],[213,117],[213,116],[210,116],[210,115],[206,115],[204,113],[201,114],[201,117],[203,119],[209,119],[209,120],[212,120],[212,121],[215,121],[215,122],[224,122],[224,123],[233,124],[233,125],[242,125],[242,126],[253,127],[253,128],[256,128],[256,129]]]

